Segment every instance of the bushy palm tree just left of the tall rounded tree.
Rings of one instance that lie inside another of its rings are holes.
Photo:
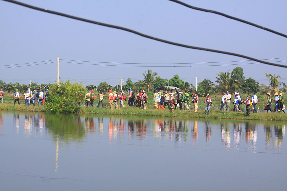
[[[218,96],[222,94],[222,92],[225,92],[226,90],[229,92],[235,92],[236,89],[239,87],[239,81],[238,80],[233,80],[232,76],[229,72],[220,72],[218,75],[219,77],[216,77],[215,82],[218,83],[214,84],[213,87],[213,96]]]

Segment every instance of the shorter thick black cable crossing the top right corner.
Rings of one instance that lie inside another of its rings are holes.
[[[268,29],[268,28],[266,28],[266,27],[263,27],[263,26],[260,26],[260,25],[251,23],[251,22],[249,22],[249,21],[245,21],[245,20],[243,20],[243,19],[239,19],[239,18],[236,18],[236,17],[232,17],[232,16],[226,15],[226,14],[224,14],[224,13],[220,13],[220,12],[218,12],[218,11],[213,11],[213,10],[208,10],[208,9],[202,9],[202,8],[199,8],[199,7],[193,7],[193,6],[191,6],[191,5],[188,5],[188,4],[186,4],[186,3],[183,3],[183,2],[177,1],[177,0],[168,0],[168,1],[173,1],[173,2],[175,2],[175,3],[179,3],[179,4],[181,4],[181,5],[184,5],[184,6],[186,6],[186,7],[189,7],[189,8],[191,8],[191,9],[195,9],[195,10],[199,10],[199,11],[204,11],[204,12],[208,12],[208,13],[215,13],[215,14],[218,14],[218,15],[222,15],[222,16],[227,17],[227,18],[229,18],[229,19],[233,19],[233,20],[236,20],[236,21],[240,21],[240,22],[246,23],[246,24],[248,24],[248,25],[252,25],[252,26],[258,27],[258,28],[260,28],[260,29],[263,29],[263,30],[266,30],[266,31],[269,31],[269,32],[272,32],[272,33],[274,33],[274,34],[278,34],[278,35],[280,35],[280,36],[283,36],[283,37],[287,38],[287,35],[282,34],[282,33],[280,33],[280,32],[277,32],[277,31]]]

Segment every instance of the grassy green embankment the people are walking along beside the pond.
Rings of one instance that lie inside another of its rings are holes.
[[[14,100],[13,96],[9,97],[6,96],[6,99],[4,99],[4,104],[0,104],[0,110],[15,110],[15,111],[33,111],[33,112],[42,112],[43,107],[45,106],[25,106],[24,99],[20,99],[20,105],[18,105],[18,102],[16,105],[13,105]],[[209,118],[209,119],[247,119],[247,120],[270,120],[270,121],[287,121],[287,114],[285,113],[252,113],[250,114],[250,117],[245,116],[245,112],[238,113],[230,111],[229,114],[223,114],[222,111],[219,111],[217,109],[218,106],[220,106],[220,98],[212,98],[213,100],[213,106],[211,109],[211,115],[206,115],[204,108],[205,98],[199,99],[199,111],[198,113],[195,113],[193,111],[193,106],[191,104],[189,111],[180,111],[175,110],[174,113],[170,113],[168,108],[166,107],[165,110],[154,110],[154,103],[152,102],[152,97],[148,99],[147,109],[142,110],[138,107],[129,107],[127,105],[127,102],[125,102],[125,108],[121,109],[109,109],[109,104],[107,99],[104,99],[104,105],[105,108],[96,108],[96,107],[81,107],[79,110],[79,113],[91,113],[91,114],[106,114],[106,115],[139,115],[139,116],[163,116],[163,117],[186,117],[186,118]],[[98,99],[94,102],[94,106],[97,106]],[[264,105],[264,101],[260,101],[258,105]],[[100,106],[101,107],[101,106]],[[242,106],[244,107],[244,105]],[[231,108],[233,109],[233,105],[231,105]],[[261,107],[261,111],[262,111]]]

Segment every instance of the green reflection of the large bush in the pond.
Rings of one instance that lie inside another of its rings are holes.
[[[85,127],[80,116],[75,114],[44,113],[46,127],[56,139],[83,140],[86,136]]]

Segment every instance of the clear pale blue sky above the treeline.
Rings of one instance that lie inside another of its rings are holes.
[[[20,2],[126,27],[172,42],[233,52],[259,60],[272,59],[265,61],[287,65],[287,38],[168,0],[20,0]],[[183,2],[219,11],[287,34],[287,1],[185,0]],[[72,82],[83,82],[84,86],[91,84],[97,86],[104,81],[115,86],[121,84],[121,77],[123,84],[127,78],[137,82],[143,79],[143,72],[148,70],[168,79],[178,74],[181,80],[194,83],[195,86],[196,77],[197,83],[203,79],[215,82],[219,72],[228,70],[232,72],[237,66],[243,68],[245,78],[252,77],[259,84],[268,84],[264,72],[280,75],[281,81],[287,83],[286,68],[255,63],[236,56],[165,44],[120,29],[53,15],[2,0],[0,0],[0,43],[0,79],[6,83],[29,84],[30,79],[31,82],[38,84],[55,83],[57,57],[60,59],[61,81],[70,79]],[[29,66],[32,64],[40,65]]]

